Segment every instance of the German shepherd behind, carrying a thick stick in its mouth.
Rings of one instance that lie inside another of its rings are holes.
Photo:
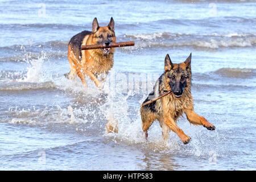
[[[96,86],[101,87],[99,75],[108,75],[114,64],[114,48],[81,50],[81,45],[100,44],[110,46],[115,43],[114,20],[110,19],[108,26],[100,27],[97,18],[93,19],[92,31],[82,31],[73,36],[68,43],[68,61],[71,71],[65,74],[67,78],[81,78],[86,86],[85,75],[94,81]]]

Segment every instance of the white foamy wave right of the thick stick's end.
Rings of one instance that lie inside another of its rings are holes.
[[[123,50],[158,48],[158,47],[195,47],[195,48],[226,48],[253,47],[256,44],[256,34],[171,34],[169,32],[154,32],[152,34],[123,35],[125,38],[137,40],[132,48]]]

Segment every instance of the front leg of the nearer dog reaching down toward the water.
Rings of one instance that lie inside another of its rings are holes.
[[[184,132],[176,125],[174,119],[171,117],[165,117],[164,123],[166,123],[166,125],[180,137],[184,144],[189,142],[191,138],[184,134]]]

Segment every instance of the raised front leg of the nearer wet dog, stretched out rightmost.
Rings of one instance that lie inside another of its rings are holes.
[[[203,125],[208,130],[215,130],[215,126],[212,123],[209,123],[207,119],[196,114],[195,111],[185,110],[185,114],[187,115],[188,121],[193,125]]]

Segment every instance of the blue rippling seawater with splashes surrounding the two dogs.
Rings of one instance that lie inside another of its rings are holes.
[[[255,1],[1,1],[1,170],[255,170]],[[115,21],[114,67],[102,90],[67,80],[67,44],[97,17]],[[142,138],[139,105],[192,52],[192,138],[167,143],[156,121]],[[137,82],[136,82],[137,81]],[[108,134],[108,115],[119,132]]]

